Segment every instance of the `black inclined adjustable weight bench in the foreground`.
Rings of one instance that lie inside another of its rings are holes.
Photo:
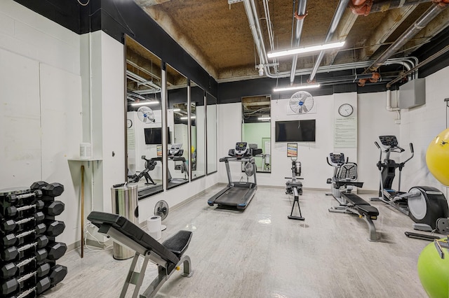
[[[148,261],[152,261],[158,266],[158,276],[154,278],[140,297],[154,297],[175,269],[180,269],[181,264],[184,267],[182,276],[192,276],[190,257],[184,255],[192,239],[192,232],[180,231],[163,243],[159,243],[140,227],[134,225],[133,222],[123,218],[123,216],[92,211],[87,218],[93,225],[98,227],[98,232],[107,234],[115,242],[135,250],[133,262],[131,262],[120,297],[125,297],[130,283],[135,285],[132,297],[138,297]],[[136,272],[134,269],[140,255],[144,257],[144,262],[140,272]]]

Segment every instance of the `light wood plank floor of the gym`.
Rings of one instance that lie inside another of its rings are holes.
[[[300,222],[287,219],[293,199],[281,188],[259,187],[243,212],[208,206],[220,188],[163,221],[161,241],[180,229],[194,233],[186,253],[194,276],[175,272],[157,297],[427,297],[416,263],[428,242],[408,239],[412,221],[393,208],[372,203],[380,241],[370,242],[366,222],[328,212],[337,201],[325,192],[304,190]],[[69,273],[45,297],[119,296],[130,260],[114,260],[112,250],[85,252],[58,261]],[[151,264],[145,283],[155,275]]]

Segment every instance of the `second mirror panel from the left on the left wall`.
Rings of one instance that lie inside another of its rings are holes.
[[[189,182],[189,100],[187,78],[166,66],[167,81],[167,189]]]

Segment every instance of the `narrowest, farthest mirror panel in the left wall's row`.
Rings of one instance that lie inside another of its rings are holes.
[[[217,99],[206,94],[207,173],[217,171]]]

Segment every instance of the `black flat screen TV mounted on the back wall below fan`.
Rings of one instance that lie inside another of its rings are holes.
[[[276,121],[276,142],[314,142],[315,120]]]

